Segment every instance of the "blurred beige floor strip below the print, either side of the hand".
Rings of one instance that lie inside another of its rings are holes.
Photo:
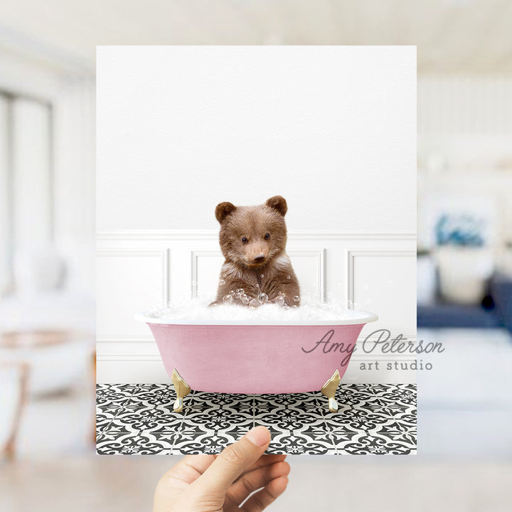
[[[2,511],[151,510],[154,486],[178,457],[67,457],[1,468]],[[512,464],[417,457],[289,456],[287,492],[272,511],[506,511]]]

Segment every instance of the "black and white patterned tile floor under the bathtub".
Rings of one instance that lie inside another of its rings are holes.
[[[97,385],[98,454],[219,453],[255,425],[267,453],[414,454],[416,386],[341,384],[339,410],[316,393],[228,395],[193,391],[174,412],[171,384]]]

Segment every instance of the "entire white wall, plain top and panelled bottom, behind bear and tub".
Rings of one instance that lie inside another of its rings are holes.
[[[169,382],[133,314],[213,294],[215,205],[277,193],[303,291],[414,338],[415,91],[408,47],[100,47],[98,382]]]

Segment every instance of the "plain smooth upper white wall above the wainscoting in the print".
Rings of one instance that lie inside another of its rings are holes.
[[[97,228],[279,193],[290,229],[413,233],[415,76],[414,47],[99,47]]]

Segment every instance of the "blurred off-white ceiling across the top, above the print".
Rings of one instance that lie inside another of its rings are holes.
[[[96,45],[417,45],[419,73],[512,73],[511,0],[16,0],[0,48],[93,71]]]

